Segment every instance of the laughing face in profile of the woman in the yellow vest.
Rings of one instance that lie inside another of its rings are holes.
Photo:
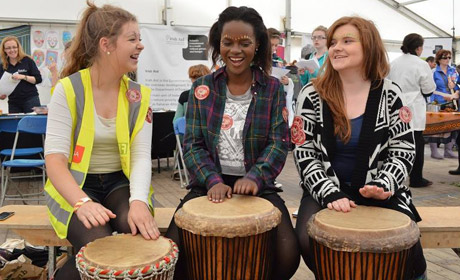
[[[137,22],[127,22],[123,25],[122,31],[116,39],[116,47],[110,49],[112,53],[109,58],[118,64],[122,73],[132,72],[137,69],[139,54],[144,49],[141,43],[141,34]]]

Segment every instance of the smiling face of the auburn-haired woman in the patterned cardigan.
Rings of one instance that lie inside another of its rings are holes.
[[[355,26],[346,24],[335,30],[329,46],[329,58],[332,67],[338,72],[362,71],[364,53]]]

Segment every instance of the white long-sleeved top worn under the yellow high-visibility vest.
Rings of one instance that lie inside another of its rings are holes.
[[[56,85],[48,108],[45,156],[58,153],[69,158],[72,117],[67,104],[64,87],[61,83]],[[95,116],[97,115],[95,114]],[[92,173],[101,171],[101,173],[109,173],[121,170],[120,155],[113,122],[114,120],[107,120],[99,116],[95,117],[96,133],[94,135],[93,152],[89,167],[89,171]],[[110,133],[113,133],[113,135],[109,135]],[[131,172],[130,178],[128,178],[131,192],[130,202],[140,200],[148,204],[152,174],[152,161],[150,158],[151,143],[152,124],[145,121],[144,126],[138,132],[136,138],[134,138],[131,146]],[[95,160],[93,160],[94,156],[96,156]],[[103,167],[104,164],[106,167]],[[107,172],[103,172],[104,170]]]

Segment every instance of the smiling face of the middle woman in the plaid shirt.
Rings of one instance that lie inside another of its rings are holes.
[[[250,73],[250,65],[257,47],[254,28],[243,21],[229,21],[222,28],[220,56],[227,65],[227,73]]]

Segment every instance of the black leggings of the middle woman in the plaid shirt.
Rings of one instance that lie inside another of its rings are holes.
[[[185,202],[190,199],[204,196],[206,192],[204,191],[195,191],[191,190],[185,197],[182,199],[181,203],[177,207],[177,210],[180,209]],[[274,247],[276,248],[275,253],[275,262],[273,266],[272,279],[290,279],[297,268],[299,267],[300,262],[300,251],[298,246],[297,237],[295,235],[294,229],[292,227],[291,219],[289,217],[289,212],[284,204],[284,200],[276,193],[262,195],[261,198],[265,198],[270,201],[276,208],[281,211],[281,224],[277,229],[277,240]],[[176,210],[176,211],[177,211]],[[182,246],[180,243],[179,229],[174,222],[174,219],[171,220],[169,224],[168,231],[166,232],[166,237],[171,238],[179,246],[179,251],[181,251]],[[184,255],[179,254],[179,260],[176,264],[176,270],[174,272],[174,279],[183,280],[187,279],[187,265],[185,263]]]

